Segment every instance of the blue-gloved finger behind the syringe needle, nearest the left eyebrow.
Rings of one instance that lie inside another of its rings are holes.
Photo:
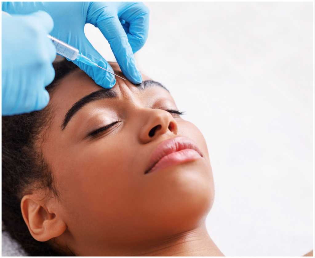
[[[109,63],[94,49],[94,47],[85,37],[85,35],[81,37],[80,40],[81,40],[80,51],[82,52],[83,55],[93,60],[100,67],[103,67],[106,70],[114,73]],[[91,77],[95,81],[96,84],[102,86],[105,89],[111,89],[112,87],[114,87],[116,79],[115,76],[112,75],[111,73],[106,72],[100,67],[89,66],[77,60],[73,60],[72,62],[79,66],[81,70],[86,72],[89,75],[89,77]]]

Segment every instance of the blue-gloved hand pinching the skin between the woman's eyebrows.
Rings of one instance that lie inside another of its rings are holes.
[[[141,83],[134,53],[146,42],[149,10],[142,3],[132,2],[2,2],[2,10],[9,14],[29,14],[37,10],[48,12],[54,20],[50,33],[113,72],[112,67],[93,48],[84,34],[84,25],[98,27],[111,45],[117,63],[125,77],[132,83]],[[92,77],[98,85],[112,88],[116,79],[99,67],[73,61]]]

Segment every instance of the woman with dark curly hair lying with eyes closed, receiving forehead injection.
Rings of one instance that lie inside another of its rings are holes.
[[[206,142],[167,89],[144,75],[103,89],[67,60],[54,68],[44,110],[3,117],[11,236],[29,255],[223,256],[205,227]]]

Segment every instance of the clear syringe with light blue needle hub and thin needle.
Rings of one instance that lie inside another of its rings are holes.
[[[89,66],[100,67],[95,62],[93,62],[91,59],[89,59],[86,56],[84,56],[83,54],[79,54],[79,49],[76,49],[76,48],[70,46],[69,44],[59,40],[58,38],[52,37],[50,35],[47,35],[47,37],[49,37],[53,41],[53,43],[54,43],[54,45],[56,47],[56,52],[58,54],[66,57],[66,58],[68,58],[70,60],[77,59],[78,61],[83,62],[84,64],[88,64]],[[123,80],[126,81],[125,78],[120,77],[120,76],[118,76],[118,75],[116,75],[116,74],[114,74],[114,73],[104,69],[103,67],[100,67],[100,68],[102,68],[103,70],[105,70],[105,71],[107,71],[107,72],[109,72],[109,73],[111,73],[111,74],[113,74],[113,75],[115,75],[115,76],[117,76],[119,78],[122,78]]]

